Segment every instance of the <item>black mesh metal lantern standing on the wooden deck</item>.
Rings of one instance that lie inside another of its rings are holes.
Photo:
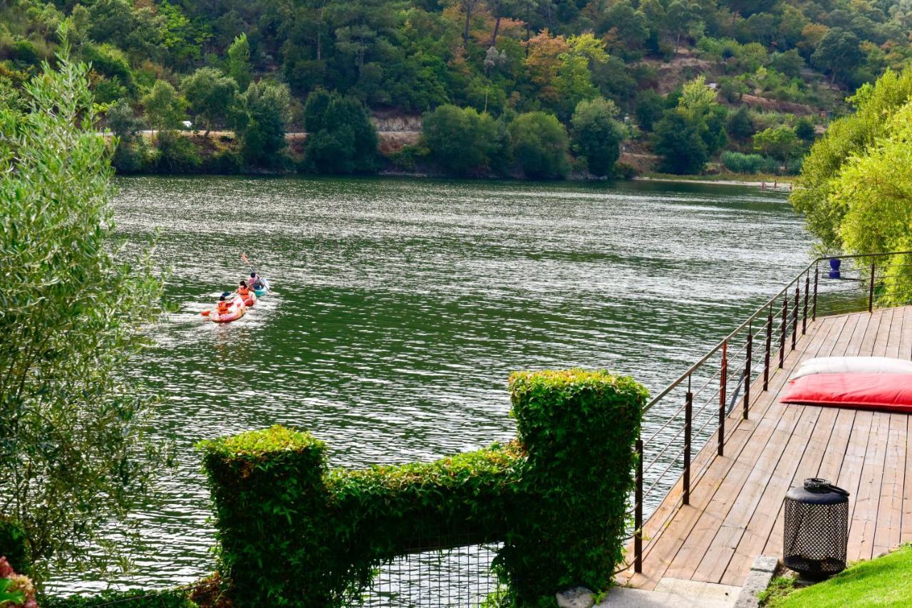
[[[782,562],[808,578],[845,570],[849,493],[826,479],[804,479],[785,494]]]

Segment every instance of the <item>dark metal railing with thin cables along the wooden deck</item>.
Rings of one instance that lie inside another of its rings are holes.
[[[664,529],[680,506],[689,504],[691,490],[714,459],[703,459],[693,470],[694,454],[715,436],[716,454],[724,456],[732,431],[726,419],[735,407],[741,407],[743,419],[750,416],[751,384],[762,377],[761,390],[769,389],[770,378],[776,368],[782,369],[786,353],[795,349],[809,322],[909,302],[912,252],[817,258],[653,397],[644,409],[644,415],[651,416],[644,416],[637,439],[636,487],[628,511],[634,520],[627,538],[633,540],[634,572],[642,572],[644,551],[654,540],[644,538],[644,516],[678,483],[679,498],[654,529]]]

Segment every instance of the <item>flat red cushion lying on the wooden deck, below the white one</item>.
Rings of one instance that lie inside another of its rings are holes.
[[[912,375],[814,374],[789,382],[782,403],[912,413]]]

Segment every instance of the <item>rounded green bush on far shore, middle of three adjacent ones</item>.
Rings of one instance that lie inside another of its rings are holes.
[[[570,172],[569,139],[556,117],[545,112],[521,114],[507,127],[513,159],[527,178],[564,179]]]

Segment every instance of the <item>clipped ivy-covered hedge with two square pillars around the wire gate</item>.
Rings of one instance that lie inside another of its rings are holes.
[[[344,605],[396,555],[492,541],[514,604],[606,589],[646,389],[575,369],[513,374],[510,392],[515,440],[430,463],[328,470],[322,441],[280,426],[201,442],[229,593]]]

